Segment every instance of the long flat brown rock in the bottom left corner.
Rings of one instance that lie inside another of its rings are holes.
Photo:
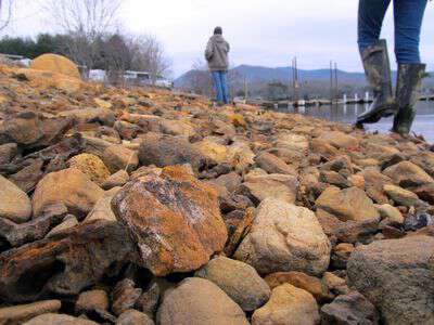
[[[29,304],[0,308],[0,324],[18,325],[40,314],[58,312],[60,300],[37,301]]]

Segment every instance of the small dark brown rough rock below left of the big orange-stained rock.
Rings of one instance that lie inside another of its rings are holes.
[[[142,289],[136,288],[133,281],[125,278],[116,284],[112,292],[112,310],[115,315],[132,309],[142,295]]]

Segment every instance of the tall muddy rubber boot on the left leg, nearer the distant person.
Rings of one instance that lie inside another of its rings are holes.
[[[374,101],[366,113],[357,117],[357,127],[374,123],[382,117],[396,114],[386,41],[381,39],[366,49],[361,53],[361,60],[369,86],[373,89]]]

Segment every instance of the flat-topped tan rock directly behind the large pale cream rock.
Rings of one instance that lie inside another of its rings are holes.
[[[278,198],[286,203],[295,203],[298,190],[296,177],[286,174],[254,176],[246,178],[237,193],[247,196],[259,204],[266,198]]]

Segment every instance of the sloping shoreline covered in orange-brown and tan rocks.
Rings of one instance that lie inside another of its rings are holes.
[[[0,66],[0,324],[432,324],[417,138]]]

